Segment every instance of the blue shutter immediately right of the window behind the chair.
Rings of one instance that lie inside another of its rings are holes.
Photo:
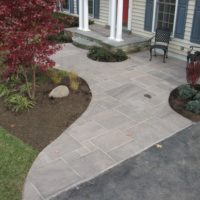
[[[183,39],[185,33],[185,24],[187,18],[188,0],[178,1],[178,10],[176,16],[176,28],[174,36]]]

